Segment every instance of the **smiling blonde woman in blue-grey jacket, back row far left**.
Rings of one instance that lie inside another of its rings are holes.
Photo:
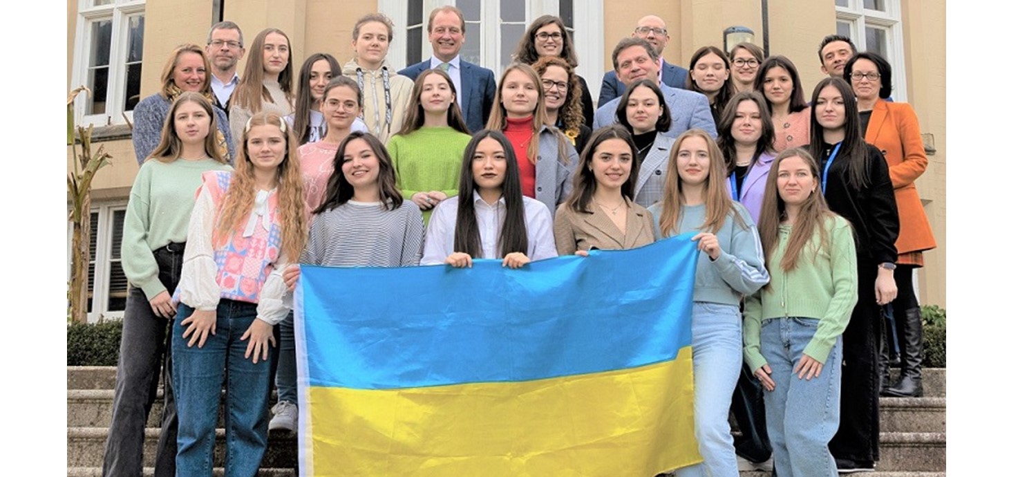
[[[136,161],[143,164],[150,152],[161,143],[161,131],[172,104],[185,92],[196,92],[213,104],[210,91],[210,62],[203,48],[195,44],[183,44],[169,53],[169,61],[161,70],[161,91],[154,93],[133,108],[133,152]],[[211,134],[218,149],[218,155],[225,162],[235,156],[235,146],[228,128],[228,116],[220,108],[214,108],[214,123]]]

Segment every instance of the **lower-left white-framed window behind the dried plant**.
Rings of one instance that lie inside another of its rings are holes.
[[[88,264],[88,321],[122,318],[126,310],[127,280],[122,267],[123,220],[126,204],[121,202],[91,206],[91,262]],[[70,255],[71,231],[68,222],[67,248]],[[70,267],[67,268],[70,280]]]

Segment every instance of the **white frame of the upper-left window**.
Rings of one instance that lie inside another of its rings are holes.
[[[144,15],[146,0],[112,0],[108,5],[93,6],[94,0],[78,0],[77,34],[74,44],[74,70],[71,85],[76,88],[86,85],[91,68],[92,25],[96,21],[111,20],[112,36],[109,49],[109,83],[106,87],[105,112],[85,114],[88,101],[86,95],[78,95],[74,104],[74,121],[80,125],[94,124],[96,127],[124,124],[125,114],[133,121],[133,111],[124,111],[126,100],[126,59],[128,54],[129,18]],[[143,59],[141,57],[141,65]]]

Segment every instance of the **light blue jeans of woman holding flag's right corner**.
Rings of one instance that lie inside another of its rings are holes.
[[[728,428],[728,406],[743,366],[743,318],[739,305],[694,302],[694,435],[704,462],[676,471],[678,477],[739,476]]]

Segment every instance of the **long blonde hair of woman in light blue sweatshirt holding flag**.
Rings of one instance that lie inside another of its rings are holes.
[[[725,160],[721,157],[721,151],[714,139],[703,129],[690,129],[673,142],[673,147],[669,152],[670,173],[666,175],[666,186],[662,192],[662,213],[659,215],[659,230],[662,235],[668,237],[678,234],[677,224],[684,206],[683,191],[680,181],[679,167],[676,166],[676,156],[679,155],[683,140],[688,137],[699,137],[707,144],[707,154],[710,164],[707,169],[707,178],[704,181],[704,223],[699,230],[717,233],[725,218],[732,214],[734,220],[741,227],[746,226],[740,212],[733,206],[733,200],[725,190]]]

